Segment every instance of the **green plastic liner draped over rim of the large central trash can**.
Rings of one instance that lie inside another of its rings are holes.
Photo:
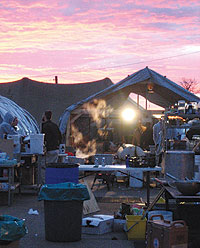
[[[72,182],[44,184],[38,195],[39,201],[85,201],[89,199],[87,187]]]

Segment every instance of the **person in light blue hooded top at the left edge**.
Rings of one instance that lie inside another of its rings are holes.
[[[7,112],[4,116],[3,122],[0,124],[0,138],[3,139],[4,135],[11,134],[17,135],[18,119],[10,112]]]

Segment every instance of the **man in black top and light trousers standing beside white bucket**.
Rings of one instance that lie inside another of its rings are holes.
[[[62,136],[58,126],[51,119],[52,112],[50,110],[45,111],[42,118],[42,133],[45,134],[46,162],[56,163],[58,161],[59,145]]]

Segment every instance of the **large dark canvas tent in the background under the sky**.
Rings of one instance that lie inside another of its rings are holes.
[[[26,109],[40,124],[44,111],[53,112],[58,123],[65,108],[112,85],[109,78],[80,84],[53,84],[22,78],[1,83],[0,94]]]

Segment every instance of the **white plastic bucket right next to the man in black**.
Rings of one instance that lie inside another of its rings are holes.
[[[30,135],[30,153],[32,154],[44,153],[44,134]]]

